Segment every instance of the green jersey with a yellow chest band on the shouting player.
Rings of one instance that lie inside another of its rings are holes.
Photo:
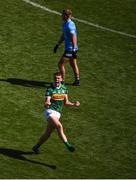
[[[49,108],[61,113],[65,94],[68,94],[68,89],[63,84],[61,84],[60,87],[51,86],[50,88],[48,88],[45,96],[51,97],[51,105],[49,106]]]

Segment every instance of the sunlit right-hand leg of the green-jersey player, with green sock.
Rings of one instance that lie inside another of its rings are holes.
[[[75,148],[68,142],[67,137],[64,133],[63,126],[60,123],[59,119],[56,117],[52,117],[52,118],[50,118],[50,121],[56,127],[56,129],[58,131],[58,135],[59,135],[60,139],[63,141],[63,143],[65,144],[65,146],[67,147],[67,149],[71,152],[74,152]]]

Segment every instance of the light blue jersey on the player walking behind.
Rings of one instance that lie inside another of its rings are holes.
[[[72,35],[76,35],[77,39],[77,31],[75,23],[69,19],[67,22],[63,24],[63,34],[64,34],[64,41],[65,41],[65,50],[72,51],[73,50],[73,43],[72,43]],[[76,42],[76,50],[78,50],[78,45]]]

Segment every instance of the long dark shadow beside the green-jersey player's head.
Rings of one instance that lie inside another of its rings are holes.
[[[5,81],[13,85],[21,85],[26,87],[33,88],[47,88],[50,86],[49,82],[45,81],[34,81],[34,80],[26,80],[26,79],[17,79],[17,78],[7,78],[0,79],[0,81]]]

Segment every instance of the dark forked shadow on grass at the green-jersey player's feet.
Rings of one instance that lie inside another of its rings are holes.
[[[56,166],[54,166],[54,165],[49,165],[49,164],[46,164],[46,163],[30,160],[30,159],[27,159],[26,157],[24,157],[24,155],[32,155],[32,154],[34,154],[33,152],[24,152],[24,151],[20,151],[20,150],[14,150],[14,149],[8,149],[8,148],[0,148],[0,154],[3,154],[5,156],[8,156],[8,157],[11,157],[11,158],[14,158],[14,159],[27,161],[27,162],[34,163],[34,164],[43,165],[43,166],[49,167],[51,169],[56,169]]]

